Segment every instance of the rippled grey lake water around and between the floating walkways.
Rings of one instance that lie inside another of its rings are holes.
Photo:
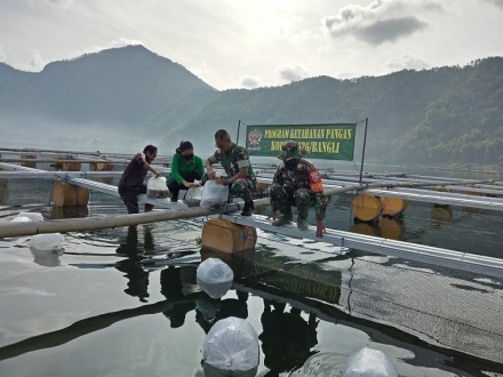
[[[54,210],[51,189],[0,183],[0,221],[126,213],[95,193],[88,209]],[[332,199],[327,227],[503,255],[500,213],[411,203],[401,221],[354,224],[351,200]],[[404,376],[503,373],[503,279],[259,231],[255,253],[222,257],[234,284],[212,300],[195,282],[203,223],[68,233],[59,256],[0,240],[0,375],[202,376],[205,335],[229,316],[259,334],[261,376],[340,375],[364,346]]]

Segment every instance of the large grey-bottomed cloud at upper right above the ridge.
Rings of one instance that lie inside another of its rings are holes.
[[[439,3],[428,0],[374,0],[367,7],[343,7],[337,15],[325,17],[322,23],[333,38],[354,36],[379,45],[426,29],[428,24],[416,15],[442,10]]]

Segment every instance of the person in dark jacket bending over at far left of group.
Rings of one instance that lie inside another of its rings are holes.
[[[119,181],[119,195],[127,207],[128,213],[138,213],[138,194],[146,194],[147,186],[143,184],[147,171],[155,177],[161,174],[154,170],[150,163],[157,157],[157,147],[147,145],[143,153],[137,153],[126,166]]]

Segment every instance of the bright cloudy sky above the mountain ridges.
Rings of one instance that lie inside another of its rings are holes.
[[[141,43],[218,89],[503,55],[503,0],[0,0],[0,61]]]

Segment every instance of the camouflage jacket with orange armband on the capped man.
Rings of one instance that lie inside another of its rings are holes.
[[[313,179],[314,178],[314,179]],[[311,162],[300,159],[295,170],[287,169],[282,163],[274,174],[273,184],[290,186],[293,191],[307,189],[312,192],[312,201],[316,210],[316,219],[325,218],[327,198],[323,194],[323,186],[318,169]]]

